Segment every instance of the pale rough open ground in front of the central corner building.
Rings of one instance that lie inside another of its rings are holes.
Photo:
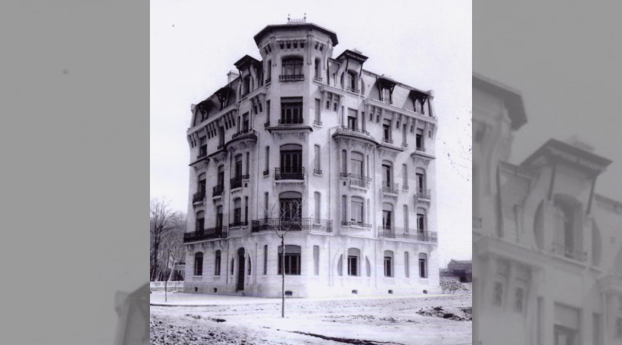
[[[462,345],[472,339],[470,293],[288,299],[285,319],[279,299],[169,297],[173,304],[193,306],[151,306],[152,345]],[[151,295],[151,303],[163,304],[164,295]]]

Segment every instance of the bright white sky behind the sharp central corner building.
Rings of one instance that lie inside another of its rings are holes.
[[[337,33],[364,68],[435,91],[441,265],[471,258],[471,1],[151,1],[149,195],[187,212],[190,105],[225,85],[253,36],[301,18]],[[451,155],[451,159],[448,157]]]

